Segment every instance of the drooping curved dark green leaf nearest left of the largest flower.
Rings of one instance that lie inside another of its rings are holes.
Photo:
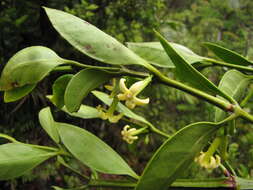
[[[84,69],[75,74],[69,81],[64,102],[69,112],[76,112],[88,93],[110,80],[111,74],[102,70]]]

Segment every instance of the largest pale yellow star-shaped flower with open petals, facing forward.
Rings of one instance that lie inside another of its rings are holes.
[[[140,99],[136,96],[148,85],[151,78],[148,77],[145,80],[134,83],[129,89],[126,87],[126,79],[120,79],[119,87],[122,93],[118,94],[118,99],[126,101],[125,104],[128,108],[133,109],[136,105],[142,106],[149,103],[149,98]]]

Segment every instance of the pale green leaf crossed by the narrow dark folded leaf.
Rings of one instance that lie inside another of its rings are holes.
[[[182,57],[190,64],[201,62],[204,60],[203,57],[195,54],[193,51],[185,46],[176,43],[169,43],[175,48]],[[149,63],[166,68],[175,68],[173,61],[164,51],[162,45],[159,42],[143,42],[143,43],[127,43],[129,49],[135,52],[137,55],[147,60]]]

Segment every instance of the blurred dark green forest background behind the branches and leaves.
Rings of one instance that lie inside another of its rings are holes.
[[[63,58],[96,64],[57,34],[42,6],[74,14],[123,43],[157,41],[153,32],[156,29],[168,40],[185,45],[200,55],[213,56],[202,46],[202,42],[208,41],[253,59],[252,0],[1,0],[0,71],[14,53],[34,45],[47,46]],[[216,84],[224,72],[223,68],[203,70]],[[0,132],[23,142],[52,144],[40,127],[37,114],[41,108],[51,105],[45,95],[51,93],[51,84],[57,76],[50,75],[30,95],[14,103],[5,104],[0,92]],[[154,85],[145,95],[151,98],[151,103],[136,111],[168,133],[191,122],[213,120],[212,106],[177,90]],[[85,101],[90,105],[99,104],[91,96]],[[248,109],[251,107],[249,104]],[[105,140],[139,173],[163,140],[150,135],[130,146],[120,137],[124,122],[110,126],[99,120],[71,118],[54,110],[57,120],[87,128]],[[230,138],[229,160],[239,176],[250,178],[253,177],[253,133],[249,124],[239,121],[237,125],[237,133]],[[208,173],[193,164],[183,177],[219,175],[219,172]],[[102,177],[113,179],[114,176]],[[0,189],[44,190],[50,189],[51,185],[71,187],[80,184],[82,181],[76,175],[51,160],[24,177],[0,182]]]

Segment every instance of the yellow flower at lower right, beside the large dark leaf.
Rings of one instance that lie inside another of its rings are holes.
[[[195,158],[195,162],[198,162],[201,167],[212,170],[219,167],[221,159],[219,155],[210,156],[206,152],[201,152],[199,157]]]

